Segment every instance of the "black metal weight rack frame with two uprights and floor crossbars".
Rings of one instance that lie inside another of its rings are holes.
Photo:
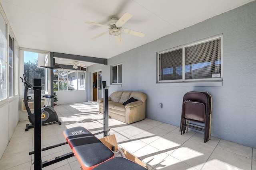
[[[60,147],[62,145],[68,144],[68,142],[59,143],[56,145],[52,145],[50,147],[46,147],[42,149],[42,143],[41,143],[41,79],[34,78],[34,147],[35,150],[32,152],[29,152],[29,155],[34,154],[34,169],[35,170],[42,170],[42,168],[52,165],[54,163],[60,162],[62,160],[65,160],[67,158],[71,158],[74,155],[73,152],[63,154],[61,156],[58,156],[56,158],[52,158],[50,160],[46,160],[42,162],[42,151],[52,149],[55,147]],[[101,133],[104,134],[104,137],[109,135],[110,129],[108,129],[108,89],[104,88],[104,113],[103,113],[103,131],[94,133],[93,135],[99,135]]]

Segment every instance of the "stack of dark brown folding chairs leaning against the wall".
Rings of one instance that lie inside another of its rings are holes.
[[[208,92],[187,92],[183,96],[180,134],[188,128],[204,131],[204,143],[211,137],[212,96]]]

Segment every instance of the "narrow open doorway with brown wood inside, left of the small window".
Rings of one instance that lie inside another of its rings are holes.
[[[102,98],[102,74],[101,71],[92,73],[92,96],[93,101]]]

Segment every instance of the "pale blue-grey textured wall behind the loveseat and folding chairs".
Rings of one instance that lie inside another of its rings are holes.
[[[118,90],[148,95],[146,117],[180,125],[182,98],[200,90],[212,94],[212,136],[256,148],[256,1],[192,25],[178,32],[94,64],[88,73],[102,70],[102,81]],[[156,83],[156,52],[223,34],[223,82]],[[125,45],[125,44],[124,44]],[[122,86],[110,85],[110,65],[122,63]],[[91,96],[87,74],[87,98]],[[207,86],[205,86],[207,85]],[[163,108],[158,108],[162,103]]]

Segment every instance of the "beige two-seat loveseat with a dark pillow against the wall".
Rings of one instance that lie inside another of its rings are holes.
[[[130,98],[136,102],[123,105]],[[147,95],[142,92],[118,91],[108,97],[108,115],[114,119],[130,124],[146,118]],[[103,98],[98,99],[99,111],[103,113]]]

